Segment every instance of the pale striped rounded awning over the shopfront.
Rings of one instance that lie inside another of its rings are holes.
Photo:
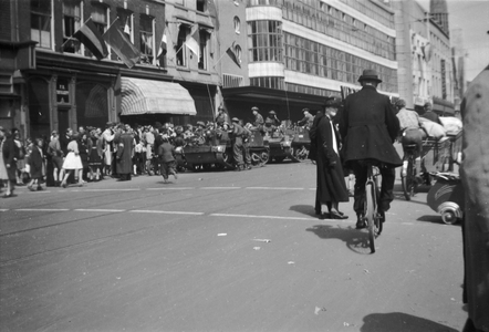
[[[121,115],[197,115],[194,98],[178,83],[122,77],[121,91]]]

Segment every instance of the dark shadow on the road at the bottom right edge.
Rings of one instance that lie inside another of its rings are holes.
[[[372,313],[363,321],[362,332],[457,332],[447,325],[403,312]]]

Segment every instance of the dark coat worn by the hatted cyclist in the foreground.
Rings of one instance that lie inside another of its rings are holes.
[[[391,101],[374,86],[366,85],[345,100],[340,120],[344,163],[376,159],[394,167],[403,165],[393,146],[399,121]]]

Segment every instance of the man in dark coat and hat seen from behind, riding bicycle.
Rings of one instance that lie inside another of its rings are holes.
[[[397,120],[389,98],[377,92],[382,82],[375,70],[364,70],[358,82],[362,90],[345,100],[340,118],[340,133],[343,137],[343,162],[355,174],[353,208],[357,216],[356,228],[365,228],[364,197],[367,178],[365,160],[374,160],[382,175],[378,214],[385,221],[385,212],[394,199],[395,167],[403,165],[393,146],[399,133]]]

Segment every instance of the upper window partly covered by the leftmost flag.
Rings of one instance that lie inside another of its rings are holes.
[[[71,38],[82,25],[80,0],[63,2],[63,52],[81,54],[81,43]]]

